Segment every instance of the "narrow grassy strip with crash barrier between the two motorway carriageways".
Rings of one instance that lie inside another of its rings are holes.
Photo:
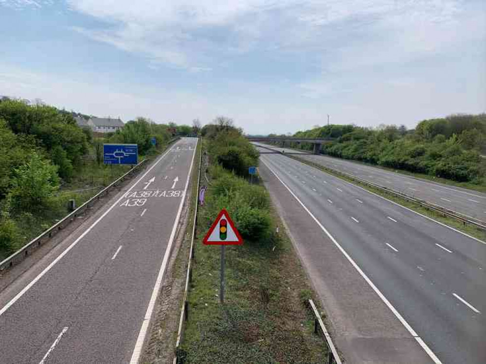
[[[289,158],[293,158],[295,159],[296,161],[299,161],[299,162],[302,162],[302,163],[305,163],[306,165],[310,165],[314,168],[317,168],[325,173],[328,173],[328,174],[331,174],[337,178],[340,178],[341,180],[344,180],[346,182],[350,182],[350,183],[353,183],[357,186],[360,186],[361,188],[364,188],[365,190],[367,191],[370,191],[370,192],[373,192],[379,196],[382,196],[386,199],[389,199],[391,201],[394,201],[402,206],[405,206],[405,207],[408,207],[409,209],[411,210],[414,210],[415,212],[417,213],[420,213],[422,215],[425,215],[425,216],[428,216],[434,220],[437,220],[443,224],[446,224],[454,229],[457,229],[461,232],[465,232],[471,236],[474,236],[480,240],[483,240],[483,241],[486,241],[486,232],[480,228],[477,228],[475,226],[472,226],[472,225],[464,225],[462,222],[452,218],[452,217],[449,217],[449,216],[444,216],[444,215],[441,215],[435,211],[432,211],[432,210],[428,210],[426,209],[425,207],[419,205],[419,204],[416,204],[414,202],[410,202],[406,199],[401,199],[391,193],[388,193],[386,191],[383,191],[383,190],[380,190],[378,188],[374,188],[374,187],[370,187],[368,186],[367,184],[364,184],[364,183],[360,183],[360,182],[357,182],[351,178],[348,178],[346,176],[343,176],[342,174],[340,174],[339,172],[331,169],[331,168],[328,168],[328,167],[325,167],[323,165],[319,165],[319,164],[316,164],[316,163],[312,163],[310,161],[307,161],[305,159],[301,159],[299,157],[296,157],[294,155],[287,155]]]

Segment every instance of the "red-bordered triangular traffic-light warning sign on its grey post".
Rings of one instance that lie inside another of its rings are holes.
[[[240,233],[234,227],[234,222],[231,219],[228,211],[222,209],[216,217],[216,220],[211,225],[206,236],[202,240],[204,245],[220,245],[221,246],[221,266],[219,272],[219,302],[224,303],[224,248],[226,245],[241,245],[243,239]]]

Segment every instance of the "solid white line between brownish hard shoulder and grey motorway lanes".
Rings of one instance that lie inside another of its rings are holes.
[[[342,248],[342,246],[334,239],[334,237],[324,228],[324,226],[321,224],[321,222],[310,212],[310,210],[304,205],[304,203],[293,193],[293,191],[288,188],[287,184],[285,184],[280,177],[277,176],[277,174],[270,168],[267,163],[262,159],[262,162],[264,165],[267,166],[267,168],[270,169],[270,171],[273,173],[273,175],[282,183],[285,188],[288,189],[288,192],[301,204],[301,206],[306,210],[306,212],[314,219],[314,221],[319,225],[319,227],[325,232],[325,234],[331,239],[331,241],[334,243],[334,245],[341,250],[342,254],[346,257],[346,259],[353,265],[353,267],[360,273],[361,277],[370,285],[370,287],[375,291],[375,293],[378,295],[379,298],[385,303],[385,305],[392,311],[392,313],[396,316],[396,318],[400,321],[400,323],[407,329],[410,334],[415,338],[415,340],[418,342],[418,344],[427,352],[427,354],[430,356],[432,361],[435,364],[441,364],[441,361],[437,358],[437,356],[432,352],[432,350],[427,346],[427,344],[420,339],[420,337],[417,335],[417,333],[412,329],[412,327],[409,325],[409,323],[403,318],[403,316],[396,311],[396,308],[390,303],[390,301],[381,293],[381,291],[378,289],[378,287],[373,283],[368,276],[361,270],[360,266],[351,258],[351,256]]]

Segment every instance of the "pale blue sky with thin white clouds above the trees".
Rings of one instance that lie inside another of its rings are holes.
[[[486,112],[484,0],[0,0],[0,95],[250,134]]]

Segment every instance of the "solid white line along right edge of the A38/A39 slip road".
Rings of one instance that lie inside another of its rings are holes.
[[[169,260],[169,253],[171,251],[172,243],[174,242],[174,237],[176,235],[177,227],[179,225],[182,206],[184,205],[184,201],[187,195],[187,186],[189,185],[189,180],[191,179],[191,172],[192,172],[192,167],[194,165],[194,156],[196,155],[196,150],[198,150],[198,142],[196,142],[196,148],[194,148],[194,152],[192,155],[192,162],[191,162],[191,166],[189,167],[189,173],[187,174],[186,185],[184,187],[184,195],[182,196],[182,199],[180,199],[179,210],[177,211],[177,215],[176,215],[176,221],[174,221],[172,232],[170,233],[170,237],[169,237],[169,242],[167,244],[167,248],[165,249],[165,254],[162,259],[162,265],[159,270],[159,275],[157,276],[157,280],[155,281],[154,289],[152,291],[152,296],[150,297],[150,301],[147,306],[147,311],[145,312],[144,320],[142,321],[142,327],[140,328],[137,342],[135,343],[135,347],[133,348],[130,364],[138,364],[140,361],[140,357],[142,356],[142,349],[144,347],[145,336],[147,334],[150,319],[154,311],[155,302],[157,301],[157,297],[159,296],[162,287],[162,279],[165,273],[165,267],[167,265],[167,261]]]

